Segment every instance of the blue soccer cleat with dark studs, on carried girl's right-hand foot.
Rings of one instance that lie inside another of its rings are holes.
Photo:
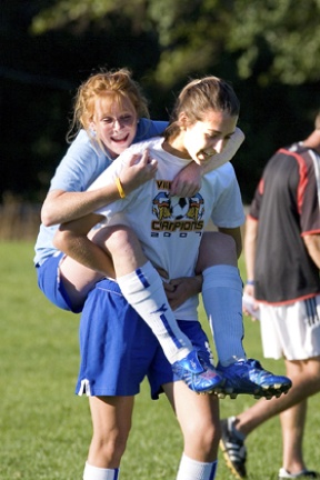
[[[228,367],[218,363],[217,371],[226,379],[220,398],[230,396],[234,399],[244,393],[252,394],[256,399],[264,397],[269,400],[287,393],[292,387],[288,377],[274,376],[254,359],[239,360]]]

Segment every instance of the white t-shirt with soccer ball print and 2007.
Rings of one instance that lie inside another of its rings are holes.
[[[90,189],[114,183],[122,164],[132,153],[143,152],[158,160],[156,179],[148,181],[124,199],[96,211],[102,223],[130,226],[139,238],[146,257],[164,269],[170,279],[194,276],[199,244],[210,218],[217,227],[237,228],[244,221],[242,200],[231,163],[226,163],[202,179],[200,191],[191,198],[170,197],[170,182],[191,160],[174,157],[162,149],[163,138],[137,143],[100,174]],[[198,296],[174,311],[180,320],[194,320]]]

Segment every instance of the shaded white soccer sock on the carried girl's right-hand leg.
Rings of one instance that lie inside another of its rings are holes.
[[[203,271],[202,299],[220,363],[246,360],[243,350],[242,281],[237,267],[214,266]]]

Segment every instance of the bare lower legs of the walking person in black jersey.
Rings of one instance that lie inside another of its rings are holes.
[[[292,388],[286,396],[271,400],[261,399],[237,417],[222,420],[221,448],[232,471],[243,474],[247,457],[244,439],[279,413],[283,444],[282,467],[294,474],[306,468],[302,450],[304,408],[308,398],[320,391],[320,357],[286,360],[286,369],[292,380]]]

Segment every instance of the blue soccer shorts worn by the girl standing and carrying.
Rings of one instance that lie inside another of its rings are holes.
[[[179,321],[179,326],[210,362],[209,341],[200,322]],[[114,281],[101,280],[89,292],[79,337],[79,396],[134,396],[147,376],[156,400],[162,384],[179,380],[151,329],[128,304]]]

